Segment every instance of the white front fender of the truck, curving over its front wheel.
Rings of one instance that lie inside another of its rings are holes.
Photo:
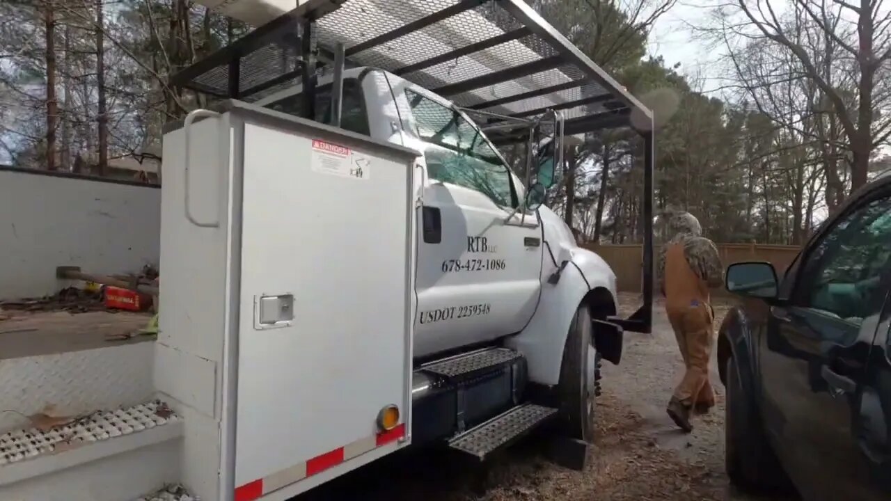
[[[531,382],[553,386],[560,382],[563,347],[576,309],[591,295],[609,296],[617,304],[616,275],[600,256],[578,247],[568,227],[550,209],[539,211],[545,248],[541,298],[526,327],[505,345],[527,358]],[[556,281],[555,274],[559,274]]]

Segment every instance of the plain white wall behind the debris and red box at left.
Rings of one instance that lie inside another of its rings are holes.
[[[0,168],[0,300],[57,292],[55,267],[159,265],[158,186]]]

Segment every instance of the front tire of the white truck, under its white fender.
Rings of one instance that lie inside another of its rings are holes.
[[[591,311],[582,304],[569,324],[558,393],[563,430],[568,437],[589,443],[594,438],[595,382],[600,373],[600,357],[594,351],[592,339]],[[595,366],[589,371],[592,359]],[[592,376],[595,381],[589,381]]]

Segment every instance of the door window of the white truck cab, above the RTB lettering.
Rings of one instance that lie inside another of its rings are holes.
[[[405,96],[430,177],[477,190],[501,207],[517,207],[510,170],[476,126],[421,94],[406,90]]]

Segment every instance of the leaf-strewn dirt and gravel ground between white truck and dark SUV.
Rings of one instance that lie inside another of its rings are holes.
[[[621,298],[627,315],[639,296]],[[715,301],[715,328],[730,307]],[[408,451],[346,475],[292,501],[764,501],[736,493],[723,470],[723,385],[712,364],[717,406],[690,435],[665,413],[682,361],[661,305],[652,334],[626,333],[621,365],[603,368],[597,437],[584,472],[544,457],[542,439],[527,439],[486,468],[447,452]],[[770,501],[786,501],[771,499]]]

